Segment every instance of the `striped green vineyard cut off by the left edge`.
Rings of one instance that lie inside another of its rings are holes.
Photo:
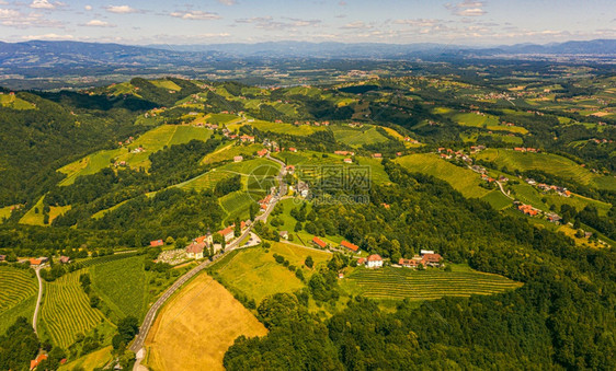
[[[32,270],[0,266],[0,334],[20,315],[32,320],[37,293]]]

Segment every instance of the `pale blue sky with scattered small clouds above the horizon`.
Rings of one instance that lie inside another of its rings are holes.
[[[616,0],[0,0],[0,40],[546,44],[616,38]]]

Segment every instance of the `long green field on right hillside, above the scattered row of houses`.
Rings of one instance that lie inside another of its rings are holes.
[[[551,153],[523,153],[502,149],[488,149],[477,154],[478,160],[494,162],[510,171],[539,170],[546,173],[575,179],[584,185],[603,189],[616,189],[616,178],[591,173],[575,162]]]

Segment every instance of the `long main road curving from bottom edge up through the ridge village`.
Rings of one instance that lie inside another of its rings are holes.
[[[272,198],[272,202],[270,204],[270,206],[267,207],[265,212],[255,217],[254,221],[258,221],[258,220],[262,220],[263,222],[267,221],[267,217],[270,216],[272,210],[274,210],[274,207],[276,206],[276,202],[280,201],[281,199],[285,198],[284,196],[286,195],[286,184],[282,181],[283,172],[285,170],[285,163],[277,160],[277,159],[271,158],[270,154],[267,154],[267,158],[281,165],[281,171],[280,171],[278,175],[276,176],[276,179],[278,181],[278,193]],[[133,350],[135,353],[137,353],[137,361],[135,362],[135,366],[134,366],[133,370],[144,370],[144,369],[146,369],[144,366],[140,364],[141,360],[145,358],[145,353],[146,353],[146,350],[144,348],[144,344],[146,343],[146,338],[148,337],[148,333],[150,332],[150,328],[153,324],[153,321],[156,320],[156,315],[157,315],[158,311],[160,310],[160,308],[167,302],[167,300],[171,295],[173,295],[173,293],[175,293],[175,291],[178,291],[178,289],[180,289],[184,283],[186,283],[186,281],[189,281],[195,275],[201,273],[203,269],[207,268],[210,264],[218,260],[223,256],[229,254],[233,250],[242,248],[242,247],[250,247],[250,246],[240,246],[240,242],[242,240],[244,240],[251,233],[253,225],[254,225],[254,223],[250,224],[250,227],[248,227],[239,237],[237,237],[232,243],[227,245],[225,247],[224,253],[214,255],[212,257],[212,260],[205,260],[205,262],[201,263],[198,266],[189,270],[184,276],[180,277],[150,306],[150,309],[148,310],[148,313],[146,314],[146,317],[144,318],[144,323],[139,327],[139,334],[137,334],[137,337],[135,338],[135,341],[133,341],[133,345],[130,346],[130,350]]]

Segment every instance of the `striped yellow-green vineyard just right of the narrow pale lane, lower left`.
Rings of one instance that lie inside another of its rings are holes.
[[[79,283],[79,276],[87,271],[80,269],[45,283],[41,325],[52,343],[65,349],[75,341],[76,334],[87,334],[105,321],[101,311],[90,306]]]

